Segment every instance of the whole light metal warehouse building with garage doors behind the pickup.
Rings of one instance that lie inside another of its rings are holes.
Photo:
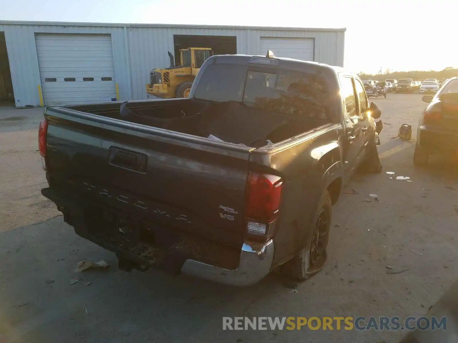
[[[150,70],[169,66],[167,51],[176,55],[178,49],[194,46],[213,48],[215,54],[265,55],[270,49],[278,57],[343,66],[344,32],[0,21],[11,75],[8,80],[6,70],[3,83],[11,82],[16,107],[141,100],[148,98]]]

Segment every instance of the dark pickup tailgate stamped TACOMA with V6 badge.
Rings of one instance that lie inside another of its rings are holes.
[[[62,107],[48,108],[51,188],[234,247],[253,148],[209,142]],[[82,204],[85,206],[86,204]]]

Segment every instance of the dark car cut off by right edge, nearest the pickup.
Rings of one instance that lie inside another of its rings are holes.
[[[436,152],[456,153],[458,149],[458,77],[445,84],[436,95],[424,95],[428,103],[418,123],[414,165],[424,166]]]

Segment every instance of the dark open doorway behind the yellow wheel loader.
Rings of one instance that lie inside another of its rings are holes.
[[[214,55],[237,54],[237,37],[235,36],[195,36],[174,35],[175,65],[180,64],[180,49],[212,48]]]

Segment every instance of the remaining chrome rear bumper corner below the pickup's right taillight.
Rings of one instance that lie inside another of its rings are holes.
[[[273,241],[245,242],[240,252],[239,268],[218,268],[195,260],[186,260],[181,273],[233,286],[249,286],[265,277],[272,267]]]

